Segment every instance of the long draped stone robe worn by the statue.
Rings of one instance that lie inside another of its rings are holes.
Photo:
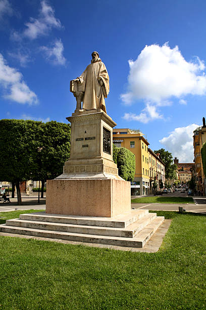
[[[98,58],[96,62],[91,62],[78,78],[84,86],[82,108],[85,110],[102,109],[107,113],[105,98],[110,91],[110,85],[105,64]],[[101,87],[100,80],[104,82]]]

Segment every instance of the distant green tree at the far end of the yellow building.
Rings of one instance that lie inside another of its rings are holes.
[[[173,164],[172,153],[166,151],[164,148],[158,149],[154,151],[156,154],[160,154],[160,159],[165,164],[165,178],[166,179],[175,179],[176,178],[176,170],[177,165]]]

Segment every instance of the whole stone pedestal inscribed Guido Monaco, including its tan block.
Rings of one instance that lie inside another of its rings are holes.
[[[130,182],[113,161],[112,128],[102,110],[75,111],[63,174],[47,181],[46,213],[112,217],[131,209]]]

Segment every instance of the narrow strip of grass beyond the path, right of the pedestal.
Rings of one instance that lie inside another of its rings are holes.
[[[132,199],[133,203],[158,203],[158,204],[194,204],[191,197],[162,197],[162,196],[149,196]]]

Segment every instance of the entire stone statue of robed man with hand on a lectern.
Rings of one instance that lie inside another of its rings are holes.
[[[102,109],[106,111],[105,98],[110,91],[109,75],[105,64],[99,58],[97,52],[91,54],[92,60],[84,72],[77,79],[70,82],[70,91],[74,94],[77,100],[78,111]]]

